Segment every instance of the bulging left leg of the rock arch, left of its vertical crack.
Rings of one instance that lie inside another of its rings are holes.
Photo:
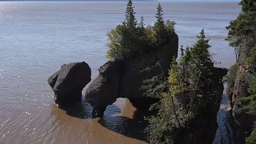
[[[94,108],[93,115],[102,117],[106,107],[118,98],[120,64],[109,61],[98,70],[99,75],[86,90],[85,101]]]

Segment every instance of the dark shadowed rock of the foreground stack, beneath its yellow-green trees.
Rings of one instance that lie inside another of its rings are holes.
[[[223,76],[228,73],[226,68],[212,68],[212,82],[214,89],[218,90],[216,98],[207,104],[207,113],[200,120],[192,120],[184,129],[177,130],[174,144],[212,144],[218,128],[217,113],[220,109],[224,86]]]

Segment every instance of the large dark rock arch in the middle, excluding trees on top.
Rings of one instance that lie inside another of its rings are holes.
[[[127,61],[109,61],[99,68],[98,77],[92,82],[85,94],[85,101],[94,107],[94,112],[102,116],[106,106],[113,104],[117,98],[128,98],[134,106],[148,100],[140,90],[143,80],[162,73],[159,67],[142,73],[146,67],[153,67],[159,61],[164,74],[172,58],[178,55],[178,36],[173,34],[161,50],[150,51],[140,58]]]

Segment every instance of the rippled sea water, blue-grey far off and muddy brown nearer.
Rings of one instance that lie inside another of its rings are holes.
[[[155,21],[157,2],[134,2],[136,16]],[[191,45],[204,28],[216,66],[230,67],[234,50],[225,26],[238,16],[237,2],[162,2],[165,20],[176,21],[180,45]],[[92,79],[104,64],[106,32],[124,20],[126,2],[0,2],[1,144],[144,144],[142,116],[126,99],[91,118],[82,103],[62,110],[53,104],[48,77],[62,64],[85,61]],[[83,94],[86,88],[83,90]],[[224,108],[224,105],[222,105]],[[218,115],[214,144],[231,144],[228,114]]]

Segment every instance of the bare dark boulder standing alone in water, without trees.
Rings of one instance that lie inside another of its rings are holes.
[[[82,90],[90,81],[91,69],[86,62],[64,64],[48,78],[54,102],[60,106],[81,101]]]

